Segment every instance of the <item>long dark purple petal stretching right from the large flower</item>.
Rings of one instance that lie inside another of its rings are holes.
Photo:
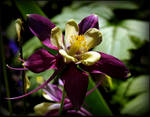
[[[129,70],[127,67],[121,62],[119,59],[100,52],[101,58],[98,62],[96,62],[92,66],[84,66],[81,67],[87,70],[90,73],[95,74],[107,74],[113,78],[127,78],[129,75]]]

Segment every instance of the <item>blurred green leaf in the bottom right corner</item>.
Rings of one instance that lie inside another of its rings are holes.
[[[149,112],[149,93],[142,93],[129,101],[121,110],[121,114],[140,116]]]

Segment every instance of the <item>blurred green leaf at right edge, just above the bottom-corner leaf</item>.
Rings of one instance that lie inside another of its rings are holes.
[[[133,96],[142,92],[149,90],[149,77],[148,76],[139,76],[132,81],[132,84],[129,85],[129,88],[126,92],[126,96]]]

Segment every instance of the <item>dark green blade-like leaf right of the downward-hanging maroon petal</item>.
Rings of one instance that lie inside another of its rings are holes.
[[[95,83],[89,78],[89,85],[88,90],[95,87]],[[108,105],[106,104],[104,98],[102,97],[101,93],[98,89],[94,90],[91,94],[89,94],[86,99],[85,103],[90,108],[89,111],[93,115],[101,115],[101,116],[111,116],[112,112],[110,111]]]

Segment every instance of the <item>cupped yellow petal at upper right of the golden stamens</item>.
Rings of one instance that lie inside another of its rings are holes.
[[[96,28],[90,28],[84,34],[88,50],[99,45],[102,41],[102,34]]]

